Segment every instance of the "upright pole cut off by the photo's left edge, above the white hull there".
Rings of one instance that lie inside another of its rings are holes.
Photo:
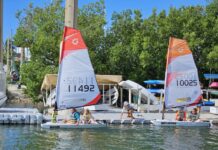
[[[3,63],[3,0],[0,0],[0,64]]]

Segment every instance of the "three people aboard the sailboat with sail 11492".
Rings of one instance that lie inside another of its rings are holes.
[[[82,114],[82,119],[80,117],[81,116],[80,114]],[[53,123],[57,122],[57,111],[56,110],[53,111],[51,121]],[[76,108],[71,109],[71,114],[69,115],[67,119],[64,119],[63,122],[68,123],[68,124],[75,124],[75,125],[96,124],[96,121],[94,120],[94,117],[92,116],[89,109],[83,109],[83,111],[80,113],[76,110]]]

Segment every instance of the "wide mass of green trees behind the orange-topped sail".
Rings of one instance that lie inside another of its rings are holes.
[[[200,76],[210,68],[218,70],[218,1],[208,6],[171,8],[142,19],[140,11],[114,13],[109,30],[110,72],[142,82],[164,79],[169,37],[186,39],[193,52]],[[203,78],[201,78],[202,80]]]

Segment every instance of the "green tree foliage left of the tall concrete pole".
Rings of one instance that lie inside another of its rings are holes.
[[[14,36],[17,46],[29,47],[31,61],[21,66],[22,83],[26,93],[38,100],[40,87],[46,73],[57,73],[59,46],[64,26],[64,8],[56,0],[45,8],[32,4],[17,13],[20,26]]]

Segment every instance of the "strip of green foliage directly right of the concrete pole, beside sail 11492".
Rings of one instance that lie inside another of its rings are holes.
[[[105,49],[104,26],[105,4],[104,0],[90,3],[79,10],[78,29],[81,30],[83,38],[89,49],[89,55],[97,73],[104,73],[107,69]]]

